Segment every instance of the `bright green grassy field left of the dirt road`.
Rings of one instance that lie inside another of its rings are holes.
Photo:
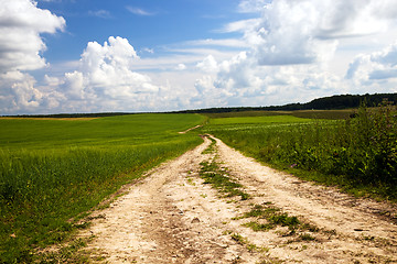
[[[202,140],[197,114],[0,119],[0,263],[29,263],[84,212]]]

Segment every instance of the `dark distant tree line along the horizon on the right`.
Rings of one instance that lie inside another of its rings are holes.
[[[215,113],[215,112],[242,112],[242,111],[294,111],[294,110],[337,110],[358,108],[365,103],[367,107],[377,107],[384,100],[393,105],[397,103],[396,94],[375,94],[375,95],[341,95],[314,99],[307,103],[288,103],[285,106],[271,107],[234,107],[234,108],[208,108],[198,110],[179,111],[185,113]]]

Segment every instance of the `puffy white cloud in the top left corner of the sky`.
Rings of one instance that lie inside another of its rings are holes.
[[[30,0],[0,0],[0,72],[31,70],[45,66],[40,55],[46,46],[41,33],[63,30],[65,20]]]

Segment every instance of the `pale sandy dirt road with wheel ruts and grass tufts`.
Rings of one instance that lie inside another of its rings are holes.
[[[216,151],[203,153],[210,144],[206,138],[195,150],[151,170],[109,208],[95,212],[100,217],[81,234],[95,235],[88,245],[93,260],[397,263],[396,207],[304,183],[218,140]],[[225,197],[206,184],[198,173],[205,161],[242,184],[250,198]]]

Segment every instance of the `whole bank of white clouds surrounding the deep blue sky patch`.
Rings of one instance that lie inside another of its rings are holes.
[[[142,47],[139,54],[148,57],[140,58],[127,38],[110,36],[105,43],[87,43],[78,62],[52,72],[66,74],[47,74],[36,81],[22,70],[46,66],[40,34],[62,31],[65,21],[29,0],[0,0],[0,111],[165,111],[396,91],[397,44],[374,52],[389,42],[390,37],[378,37],[380,32],[397,24],[394,1],[242,0],[238,11],[251,19],[212,32],[226,34],[225,38],[158,46],[155,55]],[[138,15],[155,14],[127,9]],[[367,50],[352,55],[360,43]],[[348,53],[343,72],[355,57],[345,78],[329,72],[334,55],[344,54],[341,50]]]

